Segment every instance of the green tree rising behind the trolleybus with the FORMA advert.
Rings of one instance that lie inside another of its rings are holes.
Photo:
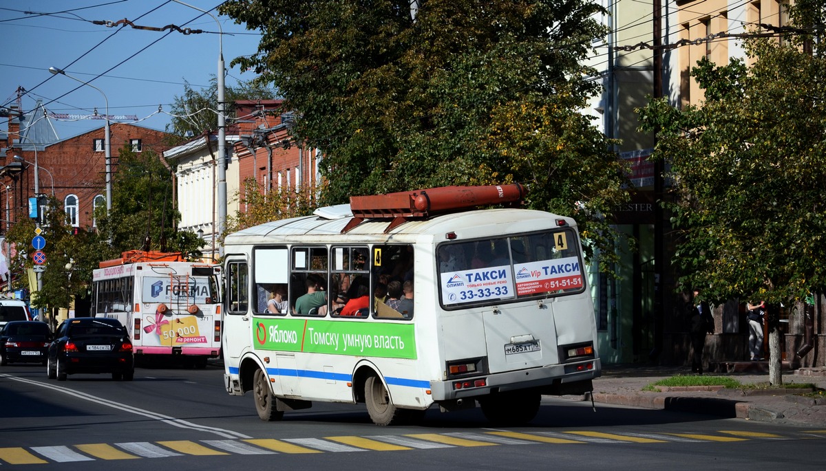
[[[112,212],[98,208],[98,228],[111,241],[113,255],[129,250],[183,252],[201,256],[197,234],[177,231],[180,213],[173,205],[173,170],[152,150],[121,148],[112,175]],[[105,260],[102,258],[102,260]]]

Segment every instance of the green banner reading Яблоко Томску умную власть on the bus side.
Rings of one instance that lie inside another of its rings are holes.
[[[415,360],[413,324],[253,318],[260,350]]]

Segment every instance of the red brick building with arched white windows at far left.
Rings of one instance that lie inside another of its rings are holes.
[[[35,195],[35,162],[40,169],[40,194],[55,196],[68,224],[94,227],[94,207],[106,205],[105,126],[59,139],[40,103],[29,113],[15,111],[9,113],[7,133],[0,134],[0,181],[7,205],[0,225],[2,233],[28,215],[28,199]],[[124,146],[135,152],[151,149],[159,154],[169,147],[164,144],[163,131],[110,122],[110,132],[112,172],[117,171],[118,155]]]

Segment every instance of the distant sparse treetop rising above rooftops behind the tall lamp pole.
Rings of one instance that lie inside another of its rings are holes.
[[[272,100],[277,97],[275,90],[258,82],[241,81],[235,87],[224,87],[226,106],[236,100]],[[184,80],[183,95],[176,96],[172,105],[172,120],[166,125],[166,132],[183,137],[187,132],[201,134],[206,130],[218,129],[218,80],[215,75],[210,86],[196,90]],[[229,111],[227,109],[227,111]]]

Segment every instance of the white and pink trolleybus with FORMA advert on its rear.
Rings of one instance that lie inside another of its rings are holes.
[[[124,252],[93,271],[94,317],[126,326],[135,360],[183,356],[202,368],[221,352],[221,266],[169,252]]]

